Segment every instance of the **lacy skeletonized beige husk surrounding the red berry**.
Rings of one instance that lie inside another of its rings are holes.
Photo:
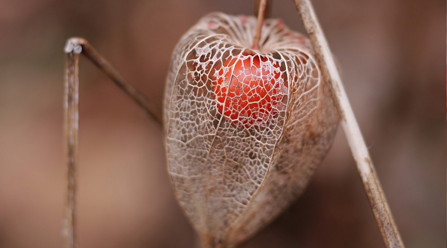
[[[234,247],[287,208],[321,162],[338,123],[307,38],[280,19],[267,19],[259,49],[252,50],[255,29],[253,16],[206,15],[178,42],[166,79],[167,170],[204,247]],[[263,113],[259,118],[230,118],[219,110],[228,108],[216,97],[219,73],[237,71],[228,61],[256,57],[256,69],[269,71],[265,83],[280,90],[268,92],[271,109],[255,108]]]

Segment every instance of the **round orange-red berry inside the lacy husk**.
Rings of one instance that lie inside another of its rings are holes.
[[[280,66],[262,55],[243,53],[223,62],[213,85],[217,108],[234,124],[250,127],[269,121],[282,101]]]

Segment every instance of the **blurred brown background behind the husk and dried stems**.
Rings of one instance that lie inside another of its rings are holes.
[[[57,248],[65,200],[65,40],[82,36],[161,105],[171,51],[211,11],[252,1],[0,0],[0,247]],[[446,246],[446,1],[314,0],[409,248]],[[292,1],[272,17],[303,31]],[[80,66],[81,248],[189,248],[160,128]],[[242,247],[383,247],[341,128],[301,198]]]

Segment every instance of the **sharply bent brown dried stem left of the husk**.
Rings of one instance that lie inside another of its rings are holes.
[[[112,81],[161,125],[161,113],[147,98],[128,84],[123,77],[93,47],[82,38],[71,38],[65,47],[65,137],[67,141],[67,202],[63,227],[64,247],[77,248],[76,240],[76,167],[79,129],[79,55],[82,53],[101,69]]]

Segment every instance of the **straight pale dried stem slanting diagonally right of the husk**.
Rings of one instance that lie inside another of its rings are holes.
[[[313,6],[310,0],[295,0],[295,4],[315,50],[323,76],[331,85],[332,96],[338,108],[341,124],[357,163],[357,169],[385,246],[404,247]]]

